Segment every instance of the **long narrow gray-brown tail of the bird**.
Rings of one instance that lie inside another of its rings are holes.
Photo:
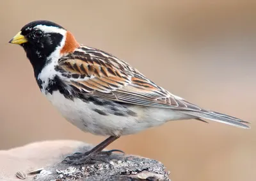
[[[233,116],[228,116],[227,114],[221,114],[214,111],[206,111],[204,109],[202,111],[186,111],[184,113],[195,116],[198,120],[207,119],[215,122],[233,125],[236,127],[241,127],[244,129],[250,129],[250,126],[246,125],[249,124],[249,122],[245,122]]]

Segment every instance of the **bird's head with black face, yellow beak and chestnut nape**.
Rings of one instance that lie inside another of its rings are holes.
[[[42,69],[52,57],[60,58],[79,47],[70,31],[48,20],[36,20],[26,24],[9,43],[24,48],[34,70]]]

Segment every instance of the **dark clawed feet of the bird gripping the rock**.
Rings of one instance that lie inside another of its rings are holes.
[[[74,155],[66,157],[62,162],[65,164],[94,164],[95,162],[108,162],[108,157],[102,157],[104,155],[109,156],[113,152],[122,152],[121,150],[109,150],[98,153],[92,153],[90,151],[85,153],[74,153]]]

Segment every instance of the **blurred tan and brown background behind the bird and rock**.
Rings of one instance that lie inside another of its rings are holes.
[[[66,122],[41,95],[22,48],[7,43],[31,20],[47,19],[172,93],[252,123],[244,130],[169,122],[124,136],[109,149],[157,159],[174,181],[256,179],[256,1],[71,2],[1,2],[0,149],[45,139],[104,139]]]

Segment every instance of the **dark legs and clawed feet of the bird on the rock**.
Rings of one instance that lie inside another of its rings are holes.
[[[109,136],[109,138],[105,139],[102,141],[102,143],[92,148],[92,150],[85,153],[74,153],[74,155],[66,157],[62,162],[67,164],[92,164],[97,161],[104,162],[107,160],[106,157],[99,157],[100,155],[111,155],[112,152],[122,152],[121,150],[102,151],[119,137],[120,136]]]

